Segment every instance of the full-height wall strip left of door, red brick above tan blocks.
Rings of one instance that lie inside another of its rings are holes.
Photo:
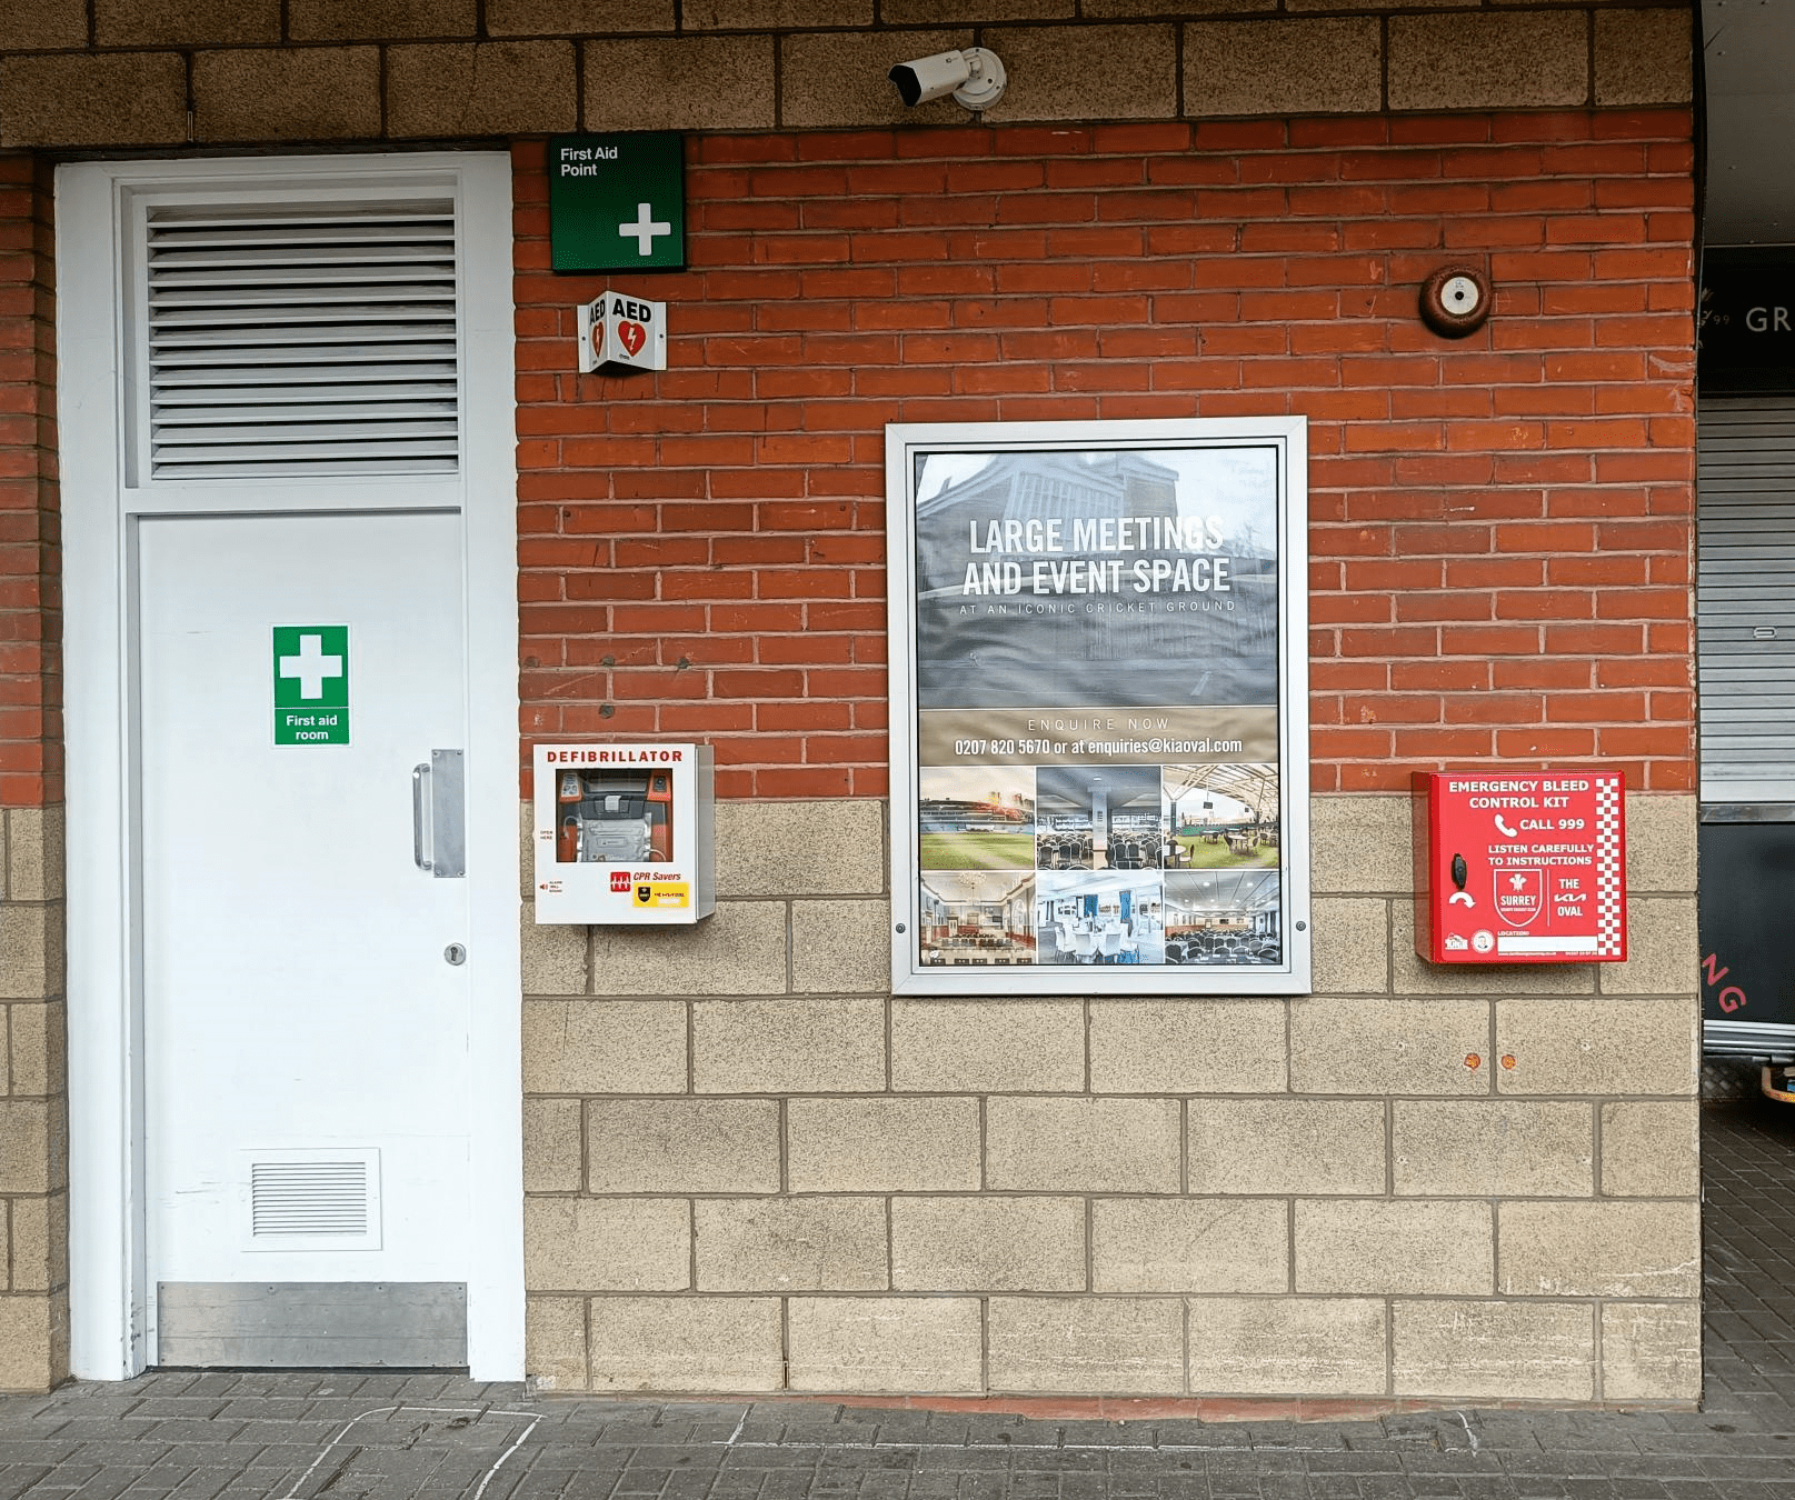
[[[50,203],[0,154],[0,1391],[68,1374]]]

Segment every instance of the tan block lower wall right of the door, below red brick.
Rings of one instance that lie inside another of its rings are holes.
[[[889,994],[885,806],[725,802],[696,931],[526,926],[560,1389],[1691,1401],[1694,800],[1633,956],[1414,956],[1409,804],[1319,797],[1316,994]]]

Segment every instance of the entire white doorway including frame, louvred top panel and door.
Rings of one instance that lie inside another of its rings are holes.
[[[57,169],[84,1378],[522,1374],[510,205]]]

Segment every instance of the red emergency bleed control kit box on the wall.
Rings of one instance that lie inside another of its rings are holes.
[[[1626,958],[1619,772],[1418,772],[1414,951],[1434,964]]]

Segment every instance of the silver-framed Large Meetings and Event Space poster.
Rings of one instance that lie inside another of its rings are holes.
[[[887,425],[896,994],[1310,992],[1307,436]]]

